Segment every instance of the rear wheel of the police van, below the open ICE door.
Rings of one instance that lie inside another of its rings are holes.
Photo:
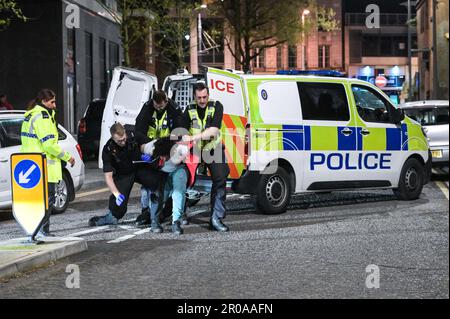
[[[291,183],[286,170],[278,167],[274,174],[262,174],[254,200],[261,214],[284,213],[291,200]]]

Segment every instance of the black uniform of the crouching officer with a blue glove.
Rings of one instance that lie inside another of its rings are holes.
[[[133,164],[133,161],[141,160],[141,151],[134,133],[128,130],[126,133],[128,138],[124,147],[117,145],[111,138],[102,151],[103,172],[113,172],[114,183],[119,192],[125,196],[125,201],[120,206],[117,206],[114,195],[109,198],[109,210],[117,219],[122,218],[127,212],[128,199],[135,182],[156,191],[166,175],[150,164]]]

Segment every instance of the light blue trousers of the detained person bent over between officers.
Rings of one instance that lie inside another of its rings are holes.
[[[187,173],[184,165],[180,165],[169,174],[164,187],[164,202],[172,196],[172,220],[181,220],[186,202]]]

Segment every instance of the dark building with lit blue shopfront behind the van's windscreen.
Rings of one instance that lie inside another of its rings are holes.
[[[416,29],[408,26],[407,2],[345,0],[345,69],[347,75],[378,85],[394,103],[408,98],[408,52],[417,47]],[[411,18],[415,16],[411,6]],[[408,47],[408,28],[411,48]],[[411,57],[411,78],[418,59]],[[376,81],[376,79],[379,81]],[[412,89],[415,86],[412,83]],[[413,92],[409,98],[412,98]]]

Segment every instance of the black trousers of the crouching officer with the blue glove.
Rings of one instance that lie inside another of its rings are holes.
[[[165,175],[160,171],[150,168],[146,164],[137,166],[136,171],[130,174],[114,174],[114,184],[116,184],[119,192],[125,196],[125,200],[122,205],[117,206],[116,197],[111,194],[109,197],[109,210],[113,216],[121,219],[127,213],[128,200],[130,199],[130,193],[135,182],[154,192],[164,187]]]

